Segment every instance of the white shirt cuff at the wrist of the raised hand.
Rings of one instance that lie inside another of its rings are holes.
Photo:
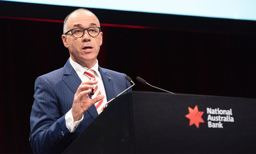
[[[65,121],[66,121],[66,127],[69,130],[70,133],[74,133],[80,122],[84,119],[84,114],[82,114],[82,118],[78,121],[74,122],[74,118],[71,112],[72,108],[66,113],[65,115]]]

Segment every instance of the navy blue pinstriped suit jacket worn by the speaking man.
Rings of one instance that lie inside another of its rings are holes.
[[[100,68],[107,100],[131,86],[125,74]],[[66,127],[65,115],[72,107],[81,80],[69,60],[63,68],[44,74],[35,81],[35,101],[30,116],[29,142],[34,153],[60,153],[98,116],[93,105],[74,133]]]

